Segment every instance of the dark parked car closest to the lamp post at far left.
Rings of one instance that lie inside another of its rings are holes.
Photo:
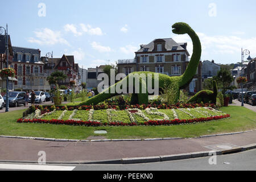
[[[18,107],[20,104],[25,105],[25,92],[9,92],[9,106]],[[3,97],[6,104],[6,94]]]

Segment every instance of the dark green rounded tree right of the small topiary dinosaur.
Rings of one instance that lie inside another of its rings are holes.
[[[234,80],[230,71],[226,68],[221,68],[218,71],[217,76],[213,78],[218,82],[218,87],[222,89],[222,93],[225,93],[227,89],[230,89],[230,83]]]

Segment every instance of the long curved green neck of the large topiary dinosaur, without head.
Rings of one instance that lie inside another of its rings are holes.
[[[196,32],[192,30],[192,28],[189,30],[188,35],[190,36],[193,42],[193,54],[191,56],[191,60],[188,63],[187,69],[181,76],[182,78],[180,82],[180,87],[187,85],[188,82],[190,82],[193,79],[194,75],[196,74],[196,70],[199,65],[201,57],[201,43],[199,37],[197,36]]]

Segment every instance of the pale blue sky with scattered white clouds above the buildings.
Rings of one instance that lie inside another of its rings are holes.
[[[9,0],[1,3],[0,26],[8,24],[13,46],[40,49],[41,56],[74,55],[80,67],[95,68],[134,59],[139,45],[154,39],[187,42],[172,24],[188,23],[199,35],[201,60],[241,62],[241,48],[256,57],[255,0]],[[245,56],[245,59],[247,56]]]

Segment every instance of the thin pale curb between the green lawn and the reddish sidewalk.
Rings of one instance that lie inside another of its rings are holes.
[[[240,131],[234,133],[223,133],[223,134],[213,134],[213,135],[202,135],[199,137],[192,137],[192,138],[208,138],[208,137],[218,137],[218,136],[225,136],[225,135],[236,135],[236,134],[243,134],[249,133],[256,130],[249,130],[249,131]],[[28,140],[44,140],[44,141],[51,141],[51,142],[131,142],[131,141],[154,141],[154,140],[177,140],[177,139],[186,139],[186,138],[146,138],[146,139],[92,139],[92,140],[78,140],[78,139],[56,139],[56,138],[41,138],[41,137],[16,137],[16,136],[5,136],[0,135],[0,138],[16,138],[16,139],[28,139]]]

